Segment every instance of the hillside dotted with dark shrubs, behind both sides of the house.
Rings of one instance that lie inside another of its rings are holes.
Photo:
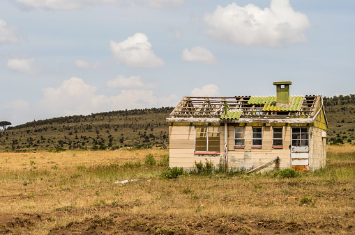
[[[328,143],[355,139],[355,95],[324,97]],[[168,145],[172,107],[75,115],[38,120],[0,131],[0,151],[151,148]]]

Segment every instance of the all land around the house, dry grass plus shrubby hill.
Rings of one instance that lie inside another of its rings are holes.
[[[0,131],[0,234],[354,234],[354,104],[330,101],[326,168],[298,174],[167,179],[169,109]]]

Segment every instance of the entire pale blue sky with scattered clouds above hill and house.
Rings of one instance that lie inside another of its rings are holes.
[[[355,1],[1,0],[0,121],[355,93]]]

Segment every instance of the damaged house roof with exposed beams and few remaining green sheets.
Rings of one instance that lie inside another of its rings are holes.
[[[290,96],[289,104],[269,97],[183,97],[169,115],[174,118],[312,118],[322,104],[320,95]]]

